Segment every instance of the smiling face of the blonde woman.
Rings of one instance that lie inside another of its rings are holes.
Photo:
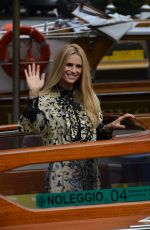
[[[76,81],[82,74],[82,59],[77,54],[72,54],[68,57],[64,68],[64,74],[59,82],[59,85],[64,89],[72,90]]]

